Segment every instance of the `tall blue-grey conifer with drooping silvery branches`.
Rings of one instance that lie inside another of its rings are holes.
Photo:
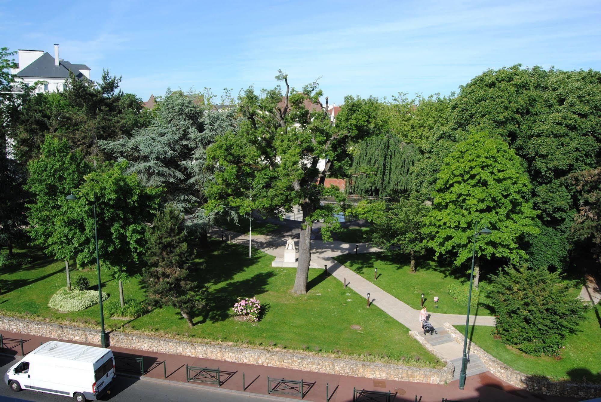
[[[204,169],[205,147],[214,133],[204,130],[204,109],[194,99],[181,91],[168,94],[155,109],[150,126],[135,130],[131,137],[102,141],[101,146],[127,160],[127,173],[138,175],[146,186],[165,187],[166,200],[191,216],[188,228],[204,234],[207,219],[201,206],[210,177]]]

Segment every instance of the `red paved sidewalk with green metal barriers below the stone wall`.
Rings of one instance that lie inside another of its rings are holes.
[[[5,348],[2,353],[11,353],[20,355],[19,340],[23,339],[23,350],[25,353],[31,352],[40,346],[40,342],[55,340],[46,337],[37,337],[34,335],[22,333],[10,333],[0,331],[5,338]],[[17,341],[11,341],[17,340]],[[97,346],[97,345],[94,345]],[[556,398],[546,397],[544,395],[534,395],[530,392],[515,388],[502,380],[492,376],[490,373],[479,374],[478,376],[468,377],[465,389],[461,391],[458,388],[458,382],[454,381],[448,385],[432,385],[415,382],[401,382],[391,380],[373,380],[359,377],[339,376],[337,374],[313,373],[310,371],[288,370],[285,368],[266,367],[261,365],[251,365],[242,363],[232,363],[224,361],[215,361],[211,359],[191,358],[188,356],[167,355],[165,353],[152,353],[142,350],[123,349],[120,347],[110,347],[115,356],[136,357],[143,356],[144,361],[144,379],[164,379],[163,364],[165,362],[167,380],[174,382],[186,382],[186,364],[195,367],[219,368],[222,371],[222,381],[225,383],[222,389],[235,391],[246,391],[254,394],[267,395],[267,376],[272,378],[285,378],[291,380],[304,380],[305,385],[304,400],[314,402],[326,401],[326,383],[329,383],[329,401],[331,402],[350,402],[353,400],[353,387],[356,389],[365,389],[366,391],[391,391],[397,392],[395,402],[397,401],[415,401],[417,395],[419,402],[439,402],[442,398],[458,401],[576,401],[576,398]],[[133,359],[132,359],[133,361]],[[135,364],[135,361],[133,361]],[[245,374],[245,387],[242,388],[242,373]],[[206,385],[206,384],[203,384]],[[217,388],[216,385],[206,385]],[[272,394],[273,395],[273,394]],[[287,395],[278,395],[287,397]],[[300,397],[290,397],[290,399],[300,400]]]

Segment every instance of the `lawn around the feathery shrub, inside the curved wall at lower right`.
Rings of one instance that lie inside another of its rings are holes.
[[[561,350],[560,359],[526,355],[493,338],[491,327],[474,327],[471,339],[490,355],[525,374],[548,376],[556,380],[572,380],[601,383],[601,320],[599,306],[587,313],[581,332],[570,335]],[[459,332],[465,326],[456,326]]]

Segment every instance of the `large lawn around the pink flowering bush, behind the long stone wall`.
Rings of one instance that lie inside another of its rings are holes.
[[[0,313],[25,317],[44,317],[57,321],[99,322],[99,306],[81,312],[59,313],[47,306],[56,290],[65,285],[64,263],[30,254],[34,263],[5,268],[1,272]],[[364,359],[404,361],[406,364],[440,367],[441,363],[407,334],[405,326],[376,306],[367,308],[365,299],[337,279],[326,277],[323,270],[310,270],[307,295],[290,293],[295,270],[273,268],[273,257],[254,250],[252,258],[243,246],[210,242],[204,258],[194,261],[199,281],[209,280],[209,310],[195,317],[193,328],[175,309],[155,309],[129,323],[106,320],[107,329],[126,326],[143,332],[182,335],[233,343],[306,349],[314,352],[364,355]],[[206,266],[202,269],[202,266]],[[72,272],[72,280],[85,275],[95,284],[94,270]],[[117,282],[103,271],[103,291],[110,300],[118,299]],[[124,284],[126,296],[143,300],[137,279]],[[237,297],[257,296],[266,306],[263,320],[257,324],[238,321],[231,316]],[[352,329],[355,324],[361,329]]]

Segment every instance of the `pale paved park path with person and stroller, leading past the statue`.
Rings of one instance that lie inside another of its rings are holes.
[[[209,231],[209,235],[218,239],[228,240],[233,243],[248,247],[248,235],[240,234],[234,231],[215,228]],[[266,254],[274,257],[284,257],[284,246],[288,239],[267,235],[252,235],[252,247],[260,249]],[[370,302],[382,309],[386,314],[408,327],[415,332],[421,332],[421,321],[419,321],[419,310],[412,308],[406,303],[401,302],[388,292],[377,287],[361,275],[353,272],[343,264],[334,260],[334,257],[341,254],[350,254],[352,252],[365,253],[382,251],[379,248],[370,246],[368,243],[343,243],[334,240],[333,242],[324,242],[323,240],[311,240],[311,267],[318,269],[327,269],[332,276],[347,284],[359,295],[367,298],[370,294]],[[460,314],[442,314],[430,313],[429,320],[438,327],[437,335],[426,335],[424,339],[430,343],[444,358],[448,359],[455,366],[455,379],[459,379],[459,372],[462,364],[463,349],[462,346],[447,333],[442,326],[443,323],[452,325],[465,324],[465,315]],[[470,315],[470,324],[494,326],[495,317],[483,315]],[[468,376],[484,373],[486,366],[475,354],[468,356]]]

